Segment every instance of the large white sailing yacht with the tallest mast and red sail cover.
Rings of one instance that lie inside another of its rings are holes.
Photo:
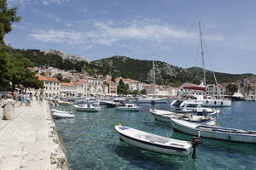
[[[201,34],[201,22],[199,21],[199,31],[200,31],[200,42],[201,42],[201,59],[202,59],[202,65],[203,65],[203,73],[204,73],[204,79],[203,82],[197,90],[206,90],[206,69],[205,69],[205,60],[204,60],[204,51],[203,51],[203,42],[202,42],[202,34]],[[215,79],[215,82],[218,87],[218,82],[216,80],[215,74],[213,72],[213,76]],[[189,89],[194,88],[194,87],[189,87]],[[189,101],[194,101],[194,102],[201,102],[201,106],[203,107],[229,107],[231,106],[231,100],[230,99],[206,99],[204,98],[203,95],[195,95],[196,99],[189,99]],[[181,105],[184,105],[184,103],[188,102],[188,100],[184,100]]]

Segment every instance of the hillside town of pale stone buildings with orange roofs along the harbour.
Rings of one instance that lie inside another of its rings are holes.
[[[207,84],[205,90],[198,90],[194,83],[185,82],[180,87],[174,88],[169,85],[156,85],[154,83],[147,84],[138,82],[127,77],[111,77],[109,75],[89,75],[86,73],[74,73],[72,71],[63,71],[57,68],[29,68],[31,71],[37,72],[38,80],[44,82],[44,88],[33,90],[33,94],[44,94],[44,97],[102,97],[102,96],[117,96],[119,81],[122,80],[129,87],[132,94],[140,94],[145,90],[148,96],[175,97],[181,93],[209,95],[215,98],[224,98],[226,96],[241,94],[243,99],[256,99],[256,77],[248,77],[239,82],[232,82],[236,85],[237,91],[230,94],[228,88],[229,83],[222,84]],[[44,75],[44,76],[43,76]],[[61,82],[56,78],[61,75],[63,79],[69,82]]]

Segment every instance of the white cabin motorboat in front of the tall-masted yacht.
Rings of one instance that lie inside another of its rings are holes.
[[[218,114],[220,111],[214,108],[202,107],[202,102],[195,102],[186,100],[180,105],[180,108],[176,109],[175,112],[188,112],[197,113],[198,115],[213,115]]]

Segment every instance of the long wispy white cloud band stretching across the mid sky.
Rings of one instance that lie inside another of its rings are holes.
[[[141,41],[165,44],[166,42],[176,42],[177,40],[196,42],[198,33],[188,31],[182,27],[162,24],[154,20],[133,20],[122,23],[98,22],[96,20],[83,23],[68,23],[68,27],[84,28],[78,31],[66,30],[37,30],[30,34],[31,37],[43,42],[68,42],[81,45],[104,45],[110,46],[122,41]],[[221,35],[207,36],[212,41],[223,41]]]

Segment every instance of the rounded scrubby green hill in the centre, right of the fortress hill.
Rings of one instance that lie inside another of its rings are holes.
[[[162,61],[154,61],[154,65],[157,84],[177,86],[183,82],[200,82],[200,77],[194,77],[191,71],[181,67]],[[153,62],[150,60],[113,56],[92,61],[90,66],[97,73],[109,74],[114,77],[130,77],[140,82],[153,82]]]

